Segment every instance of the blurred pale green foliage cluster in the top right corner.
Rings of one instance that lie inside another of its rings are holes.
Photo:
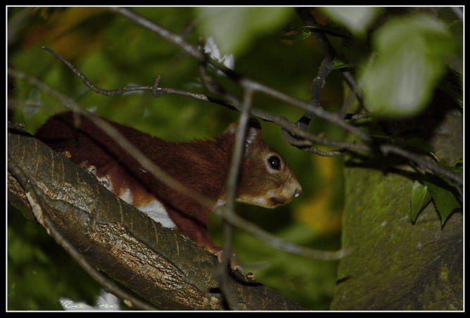
[[[323,8],[322,12],[360,37],[376,27],[371,53],[363,54],[360,82],[364,104],[381,117],[419,114],[452,63],[462,79],[463,24],[451,8],[418,8],[406,15],[385,15],[379,8]]]

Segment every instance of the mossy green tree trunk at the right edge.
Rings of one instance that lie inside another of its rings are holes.
[[[436,108],[437,109],[437,108]],[[462,158],[462,113],[433,110],[418,119],[386,123],[395,135],[419,136],[448,163]],[[413,224],[409,193],[421,177],[396,158],[366,163],[350,158],[345,169],[343,246],[333,310],[462,310],[462,212],[444,226],[433,202]]]

